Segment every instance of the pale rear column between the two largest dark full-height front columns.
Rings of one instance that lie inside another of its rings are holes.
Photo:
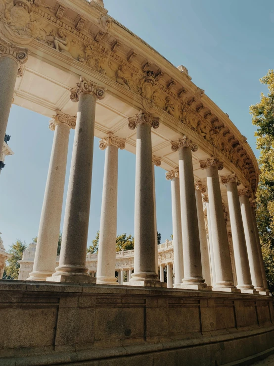
[[[98,284],[113,285],[116,262],[118,149],[125,149],[125,140],[107,134],[99,141],[99,148],[106,149],[105,168],[98,245]]]

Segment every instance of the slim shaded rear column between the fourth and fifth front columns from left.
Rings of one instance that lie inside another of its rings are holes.
[[[205,216],[204,216],[203,199],[202,199],[202,193],[204,194],[205,192],[206,192],[206,186],[204,186],[201,182],[197,182],[195,184],[195,195],[196,195],[196,208],[197,208],[198,226],[199,226],[202,271],[205,282],[207,283],[208,287],[211,287],[212,289],[209,250],[206,238]]]

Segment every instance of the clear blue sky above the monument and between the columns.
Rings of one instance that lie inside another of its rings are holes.
[[[109,15],[169,59],[187,67],[192,81],[225,112],[255,150],[249,105],[274,68],[274,2],[270,0],[104,0]],[[7,133],[15,155],[0,174],[0,232],[4,246],[37,235],[53,140],[48,118],[13,105]],[[74,132],[70,134],[64,205]],[[104,152],[95,139],[89,242],[100,225]],[[171,187],[155,168],[157,227],[162,242],[172,234]],[[135,156],[119,152],[117,234],[134,233]],[[63,209],[64,215],[64,209]],[[62,223],[63,224],[63,215]]]

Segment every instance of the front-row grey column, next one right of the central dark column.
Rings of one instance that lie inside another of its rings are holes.
[[[202,261],[198,217],[195,199],[192,151],[197,151],[197,145],[184,136],[171,143],[172,150],[179,152],[179,175],[181,197],[181,220],[183,234],[183,283],[181,287],[194,290],[207,288],[202,274]]]

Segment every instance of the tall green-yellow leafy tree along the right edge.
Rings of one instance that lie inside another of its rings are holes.
[[[267,96],[261,94],[261,101],[251,105],[252,123],[258,127],[257,149],[261,170],[258,185],[256,218],[265,263],[268,286],[274,291],[274,71],[261,80],[268,86]]]

